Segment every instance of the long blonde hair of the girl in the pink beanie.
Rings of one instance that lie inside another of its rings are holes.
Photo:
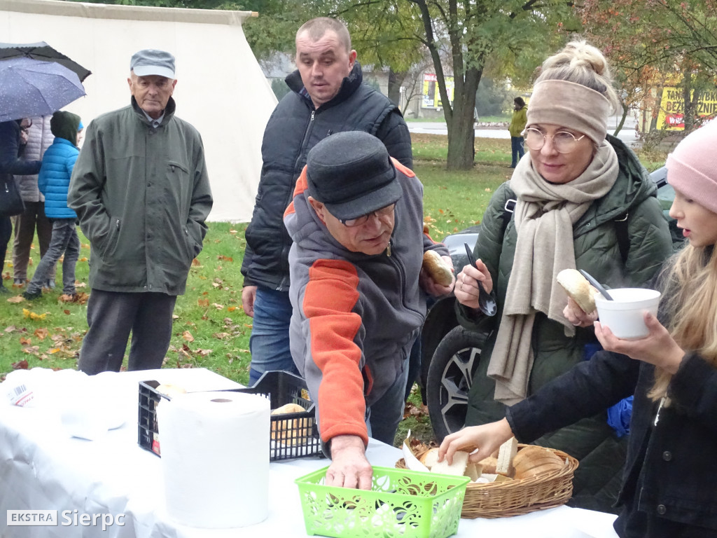
[[[686,245],[663,269],[663,308],[668,331],[685,351],[694,351],[717,367],[717,255],[713,246]],[[647,395],[667,395],[672,374],[655,369],[655,384]]]

